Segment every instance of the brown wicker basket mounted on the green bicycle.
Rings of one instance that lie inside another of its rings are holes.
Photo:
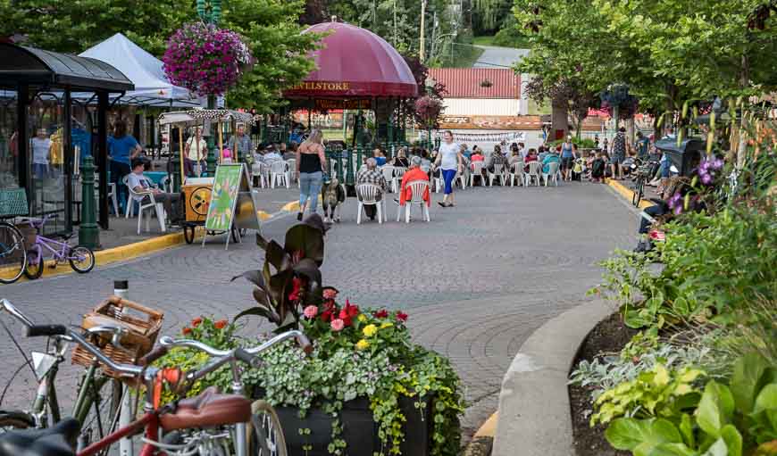
[[[116,363],[136,364],[138,359],[150,352],[154,346],[156,336],[162,328],[163,316],[161,311],[149,309],[119,296],[111,296],[84,315],[81,326],[84,329],[102,325],[126,328],[126,334],[121,337],[122,348],[109,344],[109,340],[102,336],[91,336],[90,342],[96,344],[105,356]],[[73,364],[90,366],[94,358],[81,346],[73,350]],[[122,378],[121,373],[105,366],[103,372],[113,378]]]

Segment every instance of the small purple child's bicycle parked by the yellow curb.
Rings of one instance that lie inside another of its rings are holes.
[[[43,268],[46,265],[45,250],[54,254],[54,264],[51,265],[51,268],[56,268],[59,263],[69,261],[71,268],[80,274],[86,274],[92,270],[95,267],[95,253],[83,245],[75,247],[69,245],[68,239],[72,235],[62,236],[63,242],[40,236],[48,219],[49,217],[46,216],[43,219],[29,220],[29,223],[38,231],[38,236],[36,236],[35,244],[27,249],[27,267],[24,269],[24,275],[29,279],[34,279],[43,274]]]

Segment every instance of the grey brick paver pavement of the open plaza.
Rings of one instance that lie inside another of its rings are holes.
[[[587,183],[468,189],[457,203],[451,209],[435,203],[430,223],[416,217],[410,225],[356,226],[355,200],[349,199],[343,223],[328,234],[322,272],[324,282],[352,303],[409,311],[415,340],[454,362],[471,404],[467,437],[497,409],[502,377],[522,342],[587,299],[586,290],[600,278],[597,261],[633,244],[636,217],[608,187]],[[396,220],[390,200],[388,219]],[[264,235],[282,240],[295,221],[272,220]],[[229,279],[261,260],[253,239],[230,245],[229,252],[221,242],[188,245],[87,275],[3,286],[0,296],[36,321],[78,323],[111,292],[113,279],[128,278],[130,297],[163,309],[170,333],[200,313],[231,317],[250,305],[247,283]],[[43,342],[21,339],[26,350],[42,349]],[[4,334],[0,357],[8,366],[21,363]],[[0,386],[12,372],[0,370]],[[34,394],[30,381],[25,372],[14,382],[4,406],[27,404]],[[75,370],[65,369],[61,386],[74,383]]]

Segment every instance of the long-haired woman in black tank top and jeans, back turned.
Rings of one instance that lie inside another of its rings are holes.
[[[309,213],[315,213],[318,204],[323,178],[322,170],[327,168],[322,137],[320,129],[313,129],[305,142],[297,147],[297,178],[299,179],[297,220],[302,220],[308,203],[310,203]]]

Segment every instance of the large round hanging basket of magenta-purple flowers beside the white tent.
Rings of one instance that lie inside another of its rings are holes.
[[[223,95],[254,62],[235,32],[193,22],[176,31],[164,52],[164,74],[197,95]]]

